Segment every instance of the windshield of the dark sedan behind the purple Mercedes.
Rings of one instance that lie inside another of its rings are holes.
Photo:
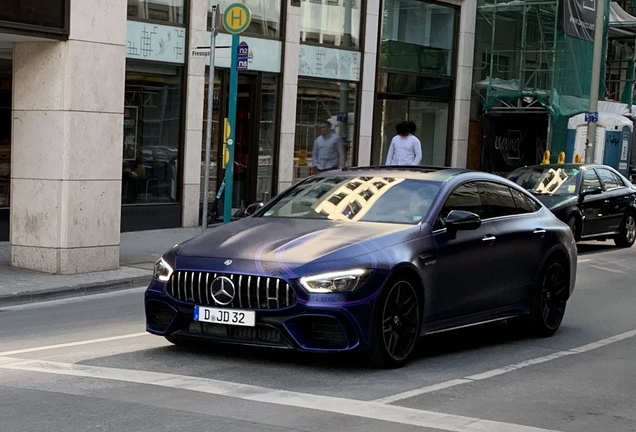
[[[537,166],[513,171],[508,179],[535,195],[576,195],[581,169],[578,167]]]

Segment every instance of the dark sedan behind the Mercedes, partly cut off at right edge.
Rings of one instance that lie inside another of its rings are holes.
[[[636,240],[636,188],[614,168],[597,164],[546,164],[518,168],[508,179],[527,189],[562,221],[575,239]]]

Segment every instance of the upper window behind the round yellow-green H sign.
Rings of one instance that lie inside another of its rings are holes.
[[[242,36],[281,37],[281,4],[282,0],[220,0],[212,2],[208,10],[208,31],[211,29],[212,6],[218,4],[221,12],[234,3],[242,3],[250,9],[252,19],[250,25],[241,33]],[[222,22],[222,21],[221,21]],[[223,25],[219,31],[225,31]]]

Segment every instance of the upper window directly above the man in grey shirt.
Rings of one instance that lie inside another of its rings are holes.
[[[360,8],[352,0],[310,0],[300,6],[300,40],[360,48]]]

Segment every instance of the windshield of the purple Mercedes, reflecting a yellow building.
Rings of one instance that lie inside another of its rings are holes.
[[[284,192],[258,216],[416,224],[440,186],[398,177],[315,177]]]

